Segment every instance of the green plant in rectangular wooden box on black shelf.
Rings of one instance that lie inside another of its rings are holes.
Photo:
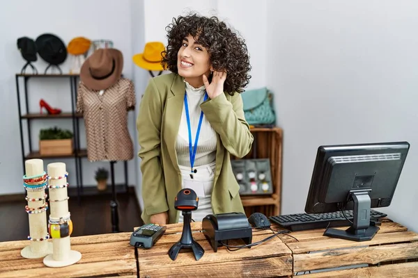
[[[39,154],[60,156],[72,154],[72,132],[53,127],[39,132]]]

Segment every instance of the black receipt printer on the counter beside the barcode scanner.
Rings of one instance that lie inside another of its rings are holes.
[[[252,229],[244,213],[206,215],[202,220],[202,231],[215,252],[223,240],[242,239],[246,245],[252,240]]]

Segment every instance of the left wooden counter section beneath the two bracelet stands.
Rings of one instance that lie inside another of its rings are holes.
[[[29,240],[0,243],[0,278],[5,277],[92,277],[125,275],[137,277],[134,248],[130,234],[102,234],[71,238],[71,249],[82,253],[82,259],[64,268],[48,268],[40,259],[24,259],[20,251]]]

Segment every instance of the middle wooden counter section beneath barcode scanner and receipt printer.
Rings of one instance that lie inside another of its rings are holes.
[[[261,245],[231,252],[219,247],[215,253],[203,236],[201,222],[192,222],[193,238],[205,250],[196,261],[191,250],[169,258],[170,247],[180,240],[183,224],[170,224],[164,236],[149,250],[139,249],[140,277],[289,277],[292,275],[291,250],[275,237]],[[253,243],[272,235],[272,231],[253,230]],[[230,245],[242,245],[237,240]]]

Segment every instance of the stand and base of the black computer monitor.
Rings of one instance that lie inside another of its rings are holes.
[[[346,230],[328,228],[324,236],[343,238],[354,241],[371,240],[379,230],[379,227],[370,226],[371,199],[366,190],[350,190],[349,196],[354,201],[353,224]]]

